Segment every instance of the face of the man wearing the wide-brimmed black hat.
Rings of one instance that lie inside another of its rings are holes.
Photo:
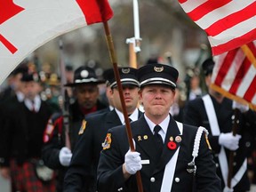
[[[99,88],[97,84],[80,84],[76,86],[76,98],[79,106],[82,108],[93,108],[99,97]]]

